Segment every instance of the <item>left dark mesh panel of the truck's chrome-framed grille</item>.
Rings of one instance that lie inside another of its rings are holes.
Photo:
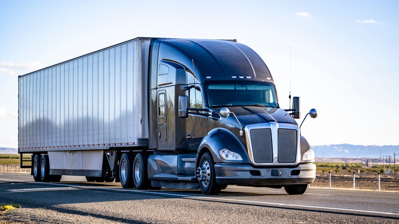
[[[255,163],[273,163],[271,129],[252,129],[251,144]]]

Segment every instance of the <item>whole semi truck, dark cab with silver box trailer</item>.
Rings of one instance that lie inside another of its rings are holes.
[[[19,76],[18,91],[18,153],[36,182],[303,194],[315,180],[300,98],[280,108],[267,65],[236,40],[138,37]]]

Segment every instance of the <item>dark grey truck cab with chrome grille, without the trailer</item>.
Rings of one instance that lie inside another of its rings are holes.
[[[161,38],[150,51],[153,186],[302,194],[315,180],[314,152],[280,108],[269,69],[252,49],[235,40]]]

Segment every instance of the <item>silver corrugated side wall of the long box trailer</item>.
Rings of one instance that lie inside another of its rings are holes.
[[[149,40],[20,76],[18,152],[138,146],[148,139]]]

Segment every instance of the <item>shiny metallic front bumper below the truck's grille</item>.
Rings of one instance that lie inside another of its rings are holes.
[[[282,187],[313,183],[316,165],[309,163],[294,168],[255,168],[246,164],[215,164],[215,173],[216,182],[220,185]]]

